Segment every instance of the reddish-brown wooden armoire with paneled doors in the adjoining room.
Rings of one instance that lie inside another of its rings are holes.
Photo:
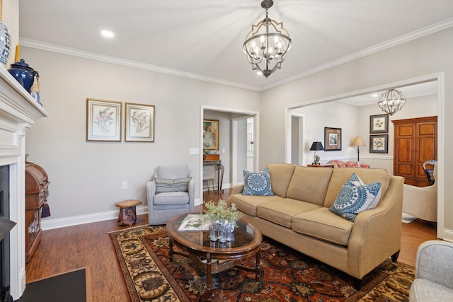
[[[437,117],[392,120],[394,123],[394,175],[408,185],[429,185],[423,163],[437,160]]]

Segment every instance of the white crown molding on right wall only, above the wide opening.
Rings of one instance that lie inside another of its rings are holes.
[[[296,76],[292,76],[289,79],[286,79],[284,81],[280,81],[278,83],[275,83],[270,86],[265,86],[261,91],[265,91],[269,88],[273,88],[276,86],[280,86],[284,83],[289,83],[291,81],[294,81],[296,79],[304,78],[305,76],[309,76],[311,74],[316,74],[317,72],[332,68],[334,66],[338,66],[340,64],[344,64],[350,61],[353,61],[355,59],[360,59],[361,57],[366,57],[369,54],[374,54],[376,52],[380,52],[382,50],[386,50],[388,48],[401,45],[406,42],[410,42],[412,40],[418,39],[420,37],[425,37],[427,35],[431,35],[432,33],[437,33],[441,30],[445,30],[447,28],[453,27],[453,18],[449,18],[445,21],[435,23],[433,25],[427,26],[425,28],[422,28],[420,30],[415,30],[412,33],[408,33],[406,35],[401,35],[400,37],[396,37],[394,39],[388,40],[386,42],[382,42],[380,44],[374,45],[372,47],[365,48],[365,50],[360,50],[358,52],[354,52],[352,54],[348,54],[345,57],[341,57],[339,59],[335,59],[331,62],[327,62],[326,64],[322,64],[319,66],[316,66],[312,69],[309,69],[302,74],[297,74]]]

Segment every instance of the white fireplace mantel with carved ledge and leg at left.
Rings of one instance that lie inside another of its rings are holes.
[[[11,296],[25,290],[25,132],[49,113],[0,66],[0,165],[9,165]]]

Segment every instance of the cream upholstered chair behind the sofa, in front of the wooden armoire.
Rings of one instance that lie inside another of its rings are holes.
[[[418,219],[437,221],[437,164],[434,165],[434,185],[415,187],[404,185],[403,213]]]

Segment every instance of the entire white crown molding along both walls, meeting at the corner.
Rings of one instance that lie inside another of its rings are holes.
[[[365,50],[360,50],[358,52],[348,54],[345,57],[340,57],[339,59],[335,59],[331,62],[327,62],[326,64],[321,64],[312,69],[304,71],[302,74],[297,74],[296,76],[292,76],[291,78],[285,79],[284,81],[280,81],[280,82],[277,82],[277,83],[274,83],[272,85],[265,86],[262,88],[260,88],[258,86],[243,85],[241,83],[236,83],[236,82],[231,82],[231,81],[224,81],[224,80],[212,78],[209,76],[202,76],[200,74],[191,74],[189,72],[178,71],[176,69],[169,69],[166,67],[161,67],[161,66],[156,66],[156,65],[151,65],[151,64],[144,64],[142,62],[135,62],[135,61],[127,60],[127,59],[120,59],[117,57],[109,57],[109,56],[105,56],[102,54],[96,54],[93,52],[84,52],[81,50],[76,50],[74,48],[62,47],[59,45],[53,45],[53,44],[49,44],[49,43],[45,43],[45,42],[39,42],[39,41],[35,41],[35,40],[25,39],[22,37],[19,38],[19,43],[25,47],[31,47],[31,48],[35,48],[38,50],[47,50],[49,52],[57,52],[57,53],[61,53],[61,54],[71,55],[74,57],[83,57],[85,59],[93,59],[93,60],[97,60],[97,61],[101,61],[101,62],[108,62],[108,63],[112,63],[112,64],[130,66],[133,68],[155,71],[155,72],[159,72],[162,74],[171,74],[173,76],[182,76],[182,77],[189,78],[189,79],[207,81],[207,82],[211,82],[211,83],[218,83],[218,84],[222,84],[222,85],[226,85],[226,86],[233,86],[236,88],[244,88],[244,89],[248,89],[251,91],[265,91],[267,89],[270,89],[270,88],[273,88],[276,86],[280,86],[284,83],[288,83],[288,82],[294,81],[296,79],[300,79],[305,76],[309,76],[311,74],[316,74],[317,72],[332,68],[334,66],[338,66],[340,64],[344,64],[344,63],[350,62],[355,59],[360,59],[361,57],[365,57],[369,54],[374,54],[376,52],[386,50],[390,47],[401,45],[403,43],[418,39],[420,37],[425,37],[426,35],[430,35],[432,33],[437,33],[441,30],[445,30],[445,29],[451,28],[451,27],[453,27],[453,18],[449,18],[445,21],[441,21],[439,23],[429,25],[425,28],[421,28],[420,30],[415,30],[412,33],[408,33],[406,35],[401,35],[400,37],[396,37],[396,38],[388,40],[386,42],[382,42],[378,45],[374,45],[372,47],[365,48]]]

